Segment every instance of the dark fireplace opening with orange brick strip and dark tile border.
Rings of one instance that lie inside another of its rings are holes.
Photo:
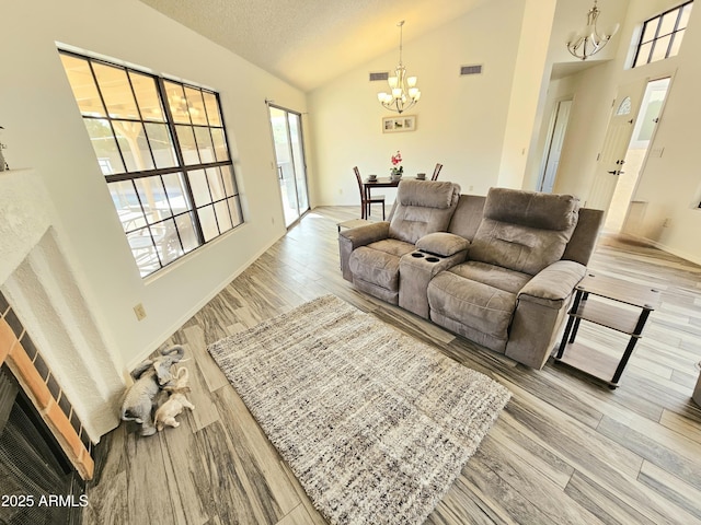
[[[82,521],[92,442],[0,292],[0,523]]]

